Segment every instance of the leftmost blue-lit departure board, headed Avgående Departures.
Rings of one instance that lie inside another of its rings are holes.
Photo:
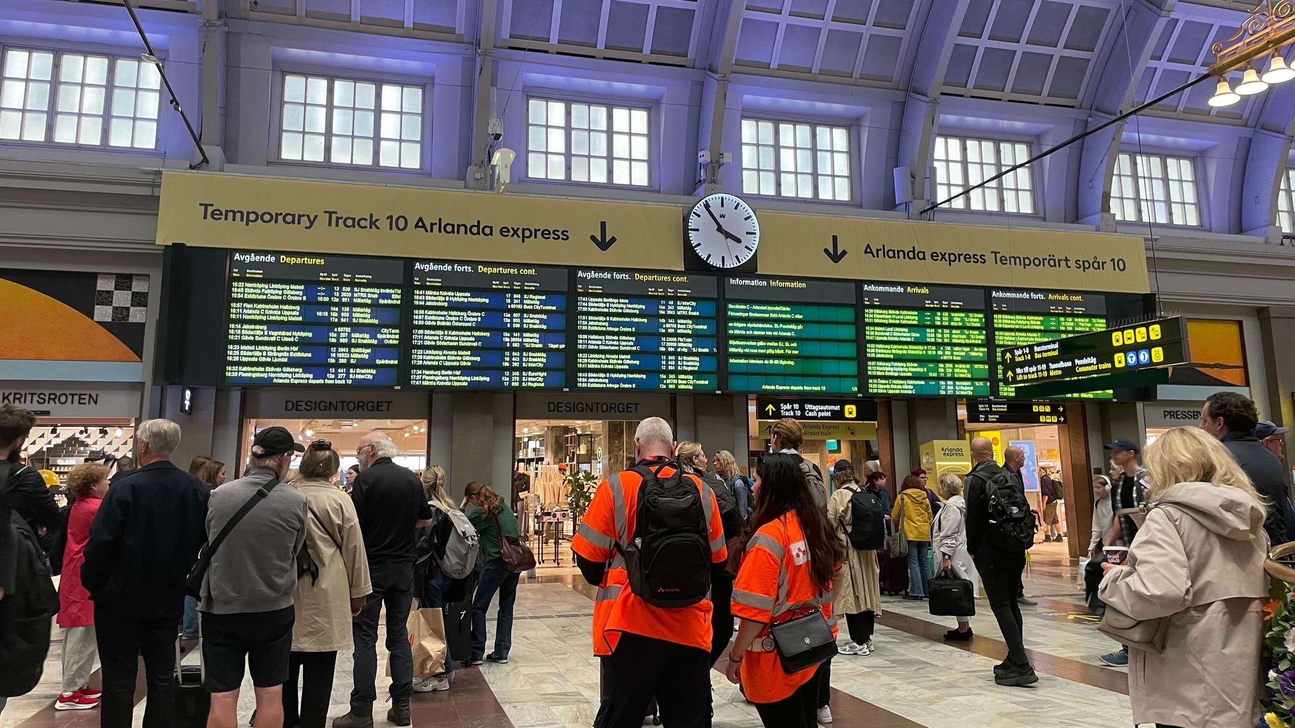
[[[399,385],[404,262],[229,256],[225,382]]]

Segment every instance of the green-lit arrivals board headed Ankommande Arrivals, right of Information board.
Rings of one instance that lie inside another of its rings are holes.
[[[984,289],[864,284],[869,394],[989,394]]]

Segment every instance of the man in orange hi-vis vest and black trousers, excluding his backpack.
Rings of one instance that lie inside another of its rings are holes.
[[[598,484],[571,540],[584,579],[598,586],[593,605],[593,653],[602,657],[602,705],[594,728],[638,728],[657,697],[667,728],[711,724],[711,602],[666,609],[629,587],[624,549],[635,540],[638,491],[645,472],[675,475],[670,424],[649,417],[635,431],[635,469]],[[695,475],[682,475],[701,492],[710,547],[710,574],[725,567],[728,549],[715,495]],[[708,578],[692,574],[685,578]]]

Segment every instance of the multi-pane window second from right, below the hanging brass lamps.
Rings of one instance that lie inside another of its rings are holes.
[[[1111,179],[1111,214],[1128,223],[1199,225],[1195,162],[1121,152]]]

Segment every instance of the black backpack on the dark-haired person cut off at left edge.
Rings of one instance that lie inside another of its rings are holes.
[[[9,464],[0,462],[0,492],[9,487]],[[40,683],[49,654],[49,624],[58,613],[58,592],[49,574],[49,562],[31,526],[8,506],[0,509],[8,522],[5,539],[12,553],[12,589],[0,600],[0,697],[25,696]],[[0,565],[5,569],[9,565]]]

